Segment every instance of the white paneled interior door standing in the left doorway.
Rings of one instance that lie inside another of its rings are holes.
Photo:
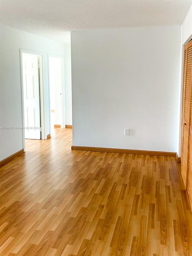
[[[22,54],[25,139],[41,139],[38,56]]]

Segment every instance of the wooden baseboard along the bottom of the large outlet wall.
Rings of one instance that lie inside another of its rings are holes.
[[[97,147],[83,147],[83,146],[71,146],[71,150],[97,151],[97,152],[134,154],[134,155],[157,155],[157,156],[176,157],[176,153],[175,152],[161,152],[161,151],[147,151],[147,150],[111,149],[111,148],[97,148]]]

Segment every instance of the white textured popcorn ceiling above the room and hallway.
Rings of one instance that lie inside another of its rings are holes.
[[[192,0],[0,0],[0,22],[58,41],[82,29],[182,24]]]

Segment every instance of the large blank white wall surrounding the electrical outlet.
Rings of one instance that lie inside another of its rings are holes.
[[[180,26],[71,32],[73,145],[176,152],[180,46]]]

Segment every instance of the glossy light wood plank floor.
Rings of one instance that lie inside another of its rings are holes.
[[[0,168],[0,255],[192,255],[174,158],[71,151],[71,129]]]

